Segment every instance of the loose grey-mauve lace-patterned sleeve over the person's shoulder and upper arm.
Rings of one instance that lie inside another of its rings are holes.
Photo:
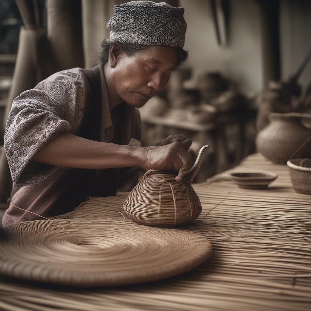
[[[57,72],[13,100],[4,149],[14,186],[46,179],[56,166],[30,162],[61,132],[76,133],[86,101],[86,77],[80,68]]]

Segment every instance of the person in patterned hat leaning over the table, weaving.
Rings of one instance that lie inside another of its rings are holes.
[[[98,66],[57,72],[14,99],[4,138],[13,189],[3,226],[115,195],[124,168],[176,170],[177,180],[191,168],[192,142],[183,135],[129,145],[141,140],[137,108],[187,58],[184,9],[152,1],[114,9]]]

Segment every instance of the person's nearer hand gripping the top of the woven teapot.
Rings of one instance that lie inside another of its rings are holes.
[[[141,165],[143,169],[146,171],[148,169],[178,171],[176,181],[182,181],[184,174],[192,168],[194,163],[192,154],[188,153],[180,142],[143,147],[143,150],[145,153]]]

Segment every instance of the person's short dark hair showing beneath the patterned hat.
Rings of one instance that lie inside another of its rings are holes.
[[[144,49],[146,49],[148,47],[148,45],[142,45],[142,44],[128,44],[128,43],[121,43],[119,41],[116,40],[108,40],[105,39],[102,43],[101,43],[101,47],[103,48],[101,53],[100,53],[100,62],[102,64],[105,64],[108,62],[108,57],[109,57],[109,49],[110,49],[110,45],[112,43],[117,43],[118,45],[120,45],[121,50],[124,51],[126,53],[126,55],[128,56],[132,56],[134,55],[136,52],[138,51],[142,51]],[[183,61],[185,61],[188,57],[188,52],[185,51],[182,48],[175,48],[177,49],[178,52],[178,60],[177,60],[177,66],[180,65],[180,63],[182,63]]]

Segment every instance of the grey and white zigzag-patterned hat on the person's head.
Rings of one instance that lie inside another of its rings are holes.
[[[165,2],[131,1],[115,5],[114,16],[107,23],[110,39],[182,48],[187,29],[183,12],[183,7],[172,7]]]

